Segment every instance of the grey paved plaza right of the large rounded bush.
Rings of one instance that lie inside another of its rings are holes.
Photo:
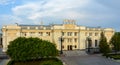
[[[72,53],[72,52],[70,52]],[[63,62],[65,62],[66,65],[120,65],[120,62],[117,62],[112,59],[107,59],[101,54],[82,54],[82,55],[73,55],[72,56],[61,56],[61,59]]]

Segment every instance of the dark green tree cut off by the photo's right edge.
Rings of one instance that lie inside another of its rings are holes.
[[[110,43],[114,46],[113,50],[117,53],[120,51],[120,32],[116,32],[110,40]]]

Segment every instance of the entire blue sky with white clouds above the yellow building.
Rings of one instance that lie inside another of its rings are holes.
[[[120,0],[0,0],[0,28],[8,24],[62,24],[120,31]]]

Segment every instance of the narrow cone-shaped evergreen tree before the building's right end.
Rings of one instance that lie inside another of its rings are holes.
[[[101,32],[101,37],[100,37],[100,41],[99,41],[99,48],[100,48],[100,52],[103,53],[103,55],[107,55],[107,53],[110,52],[110,48],[109,48],[109,45],[107,43],[107,39],[106,39],[103,32]]]

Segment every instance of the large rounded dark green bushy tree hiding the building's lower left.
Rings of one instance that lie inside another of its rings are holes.
[[[10,42],[7,54],[14,61],[27,61],[55,57],[58,50],[54,43],[39,38],[19,37]]]

